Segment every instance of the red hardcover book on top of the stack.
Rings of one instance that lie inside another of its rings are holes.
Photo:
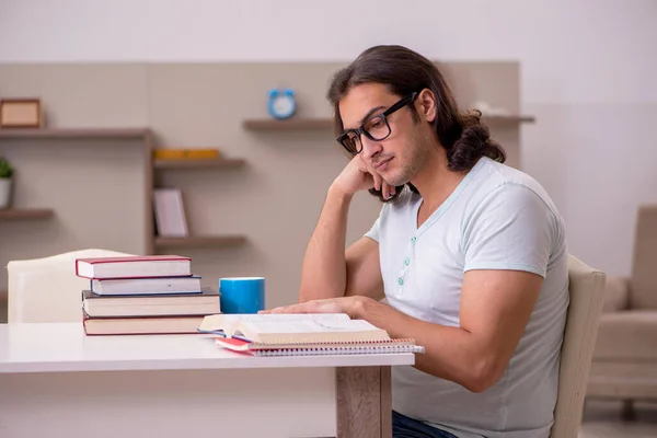
[[[76,275],[90,279],[191,276],[192,258],[181,255],[78,258]]]

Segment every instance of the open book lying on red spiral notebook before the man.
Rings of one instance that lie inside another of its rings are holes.
[[[216,333],[217,345],[254,356],[423,353],[414,339],[346,313],[208,315],[199,332]]]

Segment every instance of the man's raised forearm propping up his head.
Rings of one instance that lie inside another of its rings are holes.
[[[301,268],[299,302],[342,297],[347,284],[345,241],[350,195],[328,188]]]

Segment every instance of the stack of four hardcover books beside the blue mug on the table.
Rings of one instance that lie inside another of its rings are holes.
[[[221,313],[219,292],[201,288],[192,260],[180,255],[76,260],[88,335],[198,333],[205,316]]]

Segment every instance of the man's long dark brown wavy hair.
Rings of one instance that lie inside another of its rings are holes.
[[[326,97],[333,105],[336,135],[344,129],[338,107],[341,99],[351,88],[372,82],[387,85],[390,92],[400,96],[424,89],[431,90],[437,101],[433,127],[447,152],[449,170],[470,170],[482,157],[506,161],[504,149],[491,139],[488,128],[482,123],[482,114],[477,111],[461,112],[436,64],[402,46],[370,47],[334,74]],[[415,107],[411,108],[414,118],[419,120]],[[408,186],[417,193],[412,184]],[[396,187],[395,195],[390,199],[383,199],[380,191],[372,188],[370,193],[381,200],[392,200],[402,188]]]

